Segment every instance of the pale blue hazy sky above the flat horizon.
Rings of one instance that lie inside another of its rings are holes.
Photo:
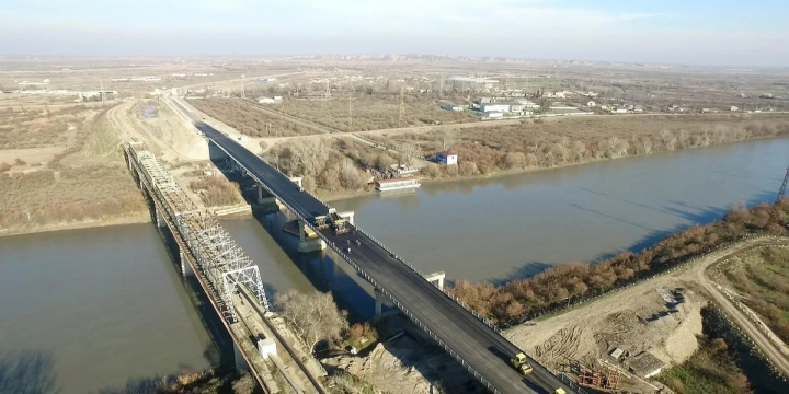
[[[0,55],[434,54],[786,67],[787,16],[786,0],[0,0]]]

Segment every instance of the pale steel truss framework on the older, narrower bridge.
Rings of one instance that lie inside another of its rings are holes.
[[[214,215],[195,206],[144,143],[129,142],[124,149],[129,164],[134,161],[137,175],[145,178],[155,209],[163,210],[157,215],[163,217],[172,231],[179,232],[199,274],[208,279],[206,291],[215,298],[222,317],[231,323],[238,321],[232,304],[237,286],[245,286],[261,305],[271,311],[258,266]]]

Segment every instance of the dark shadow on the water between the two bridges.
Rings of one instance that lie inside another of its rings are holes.
[[[298,239],[283,231],[285,223],[295,217],[281,211],[276,204],[258,204],[256,183],[244,176],[214,143],[209,143],[208,148],[216,167],[228,181],[239,185],[244,201],[252,207],[252,218],[271,235],[310,283],[318,291],[330,291],[338,306],[348,311],[352,323],[371,320],[375,314],[373,286],[368,286],[358,273],[329,248],[323,252],[298,252]],[[258,260],[255,263],[265,264]],[[261,268],[261,273],[264,271]],[[270,300],[275,300],[279,287],[266,281],[265,275],[262,276],[266,296]]]

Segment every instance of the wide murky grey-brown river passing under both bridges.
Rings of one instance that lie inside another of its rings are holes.
[[[332,205],[354,210],[357,224],[425,273],[499,282],[640,250],[735,201],[771,201],[788,151],[789,139],[758,140]],[[352,315],[368,317],[369,287],[330,257],[295,253],[283,222],[222,221],[261,267],[267,293],[331,289]],[[81,394],[207,368],[218,345],[194,297],[150,224],[2,237],[0,372],[32,355],[43,381]]]

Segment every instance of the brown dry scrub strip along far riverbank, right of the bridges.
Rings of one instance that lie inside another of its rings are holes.
[[[448,136],[447,136],[448,135]],[[518,125],[368,136],[381,143],[415,143],[425,155],[459,153],[459,166],[425,175],[473,176],[501,171],[552,167],[601,159],[705,147],[789,135],[789,116],[596,116],[533,119]]]

